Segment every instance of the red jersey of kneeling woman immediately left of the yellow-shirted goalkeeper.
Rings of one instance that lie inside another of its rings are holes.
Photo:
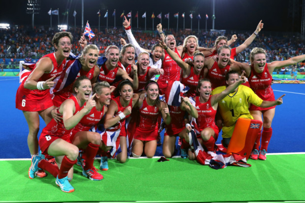
[[[211,97],[212,96],[210,96],[208,102],[206,103],[201,103],[199,101],[199,96],[195,97],[195,108],[198,111],[198,118],[195,119],[196,122],[192,121],[192,125],[194,126],[197,134],[200,134],[200,132],[205,128],[210,127],[213,128],[216,136],[218,136],[219,130],[214,121],[216,110],[212,108]]]

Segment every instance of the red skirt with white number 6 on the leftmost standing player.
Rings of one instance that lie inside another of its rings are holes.
[[[21,84],[16,93],[16,108],[26,112],[39,112],[53,106],[49,89],[26,89]]]

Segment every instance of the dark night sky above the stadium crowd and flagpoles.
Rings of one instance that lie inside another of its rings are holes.
[[[298,10],[301,11],[302,0]],[[301,12],[295,18],[289,14],[290,0],[215,0],[215,29],[254,30],[260,20],[263,20],[265,31],[296,31],[301,30]],[[1,1],[0,23],[16,25],[31,25],[31,15],[26,14],[27,0]],[[77,12],[76,25],[81,25],[81,0],[41,0],[39,14],[35,14],[35,25],[50,25],[50,16],[47,12],[60,9],[60,23],[66,23],[66,17],[61,15],[69,8],[69,25],[74,25],[73,11]],[[101,10],[100,25],[106,26],[104,15],[108,12],[108,25],[114,26],[112,13],[116,9],[116,26],[122,25],[120,15],[125,10],[125,15],[132,11],[132,27],[136,27],[134,15],[139,11],[139,27],[144,27],[145,21],[142,14],[147,12],[147,28],[152,28],[152,12],[157,16],[162,11],[162,25],[167,28],[167,19],[164,14],[170,12],[170,27],[176,28],[177,19],[174,13],[179,12],[179,28],[183,28],[181,14],[185,12],[185,28],[190,28],[190,11],[193,13],[192,27],[198,29],[198,13],[201,16],[200,28],[205,28],[205,14],[209,16],[207,27],[212,29],[212,0],[84,0],[84,24],[87,20],[91,27],[98,26],[98,10]],[[52,24],[58,22],[57,16],[52,16]],[[154,19],[154,25],[159,19]]]

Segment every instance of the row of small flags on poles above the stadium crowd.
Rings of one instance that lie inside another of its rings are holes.
[[[48,14],[49,14],[49,15],[59,15],[59,10],[58,10],[58,9],[57,9],[57,10],[51,10],[51,9],[50,9],[49,12],[48,12]],[[68,10],[67,10],[66,12],[62,13],[62,15],[68,15]],[[98,15],[98,16],[101,16],[100,10],[98,10],[97,15]],[[114,12],[112,13],[112,16],[115,16],[115,15],[116,15],[116,11],[114,11]],[[73,16],[74,16],[74,17],[76,16],[76,11],[75,11],[75,10],[74,10],[74,12],[73,12]],[[124,11],[122,12],[122,14],[121,14],[120,17],[122,18],[123,16],[124,16]],[[127,13],[126,17],[131,18],[131,11],[130,11],[129,13]],[[134,17],[135,17],[135,18],[138,18],[138,12],[136,13],[136,15],[135,15]],[[184,13],[181,15],[181,17],[184,18]],[[193,19],[193,13],[189,14],[189,17],[190,17],[191,19]],[[108,11],[105,13],[104,18],[108,18]],[[142,15],[142,18],[146,18],[146,12]],[[152,13],[152,18],[155,18],[155,15],[154,15],[153,13]],[[159,13],[159,14],[157,15],[157,18],[159,18],[159,19],[162,18],[161,13]],[[164,15],[164,18],[169,19],[169,13],[165,14],[165,15]],[[175,14],[174,14],[174,18],[179,18],[179,13],[175,13]],[[215,16],[213,15],[212,18],[215,19]],[[200,14],[198,14],[197,19],[198,19],[198,20],[201,19]],[[208,14],[206,14],[206,19],[209,19]]]

